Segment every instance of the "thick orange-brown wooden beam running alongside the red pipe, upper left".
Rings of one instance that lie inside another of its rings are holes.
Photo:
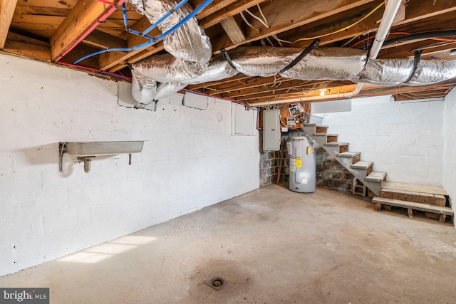
[[[115,0],[118,3],[120,0]],[[51,58],[56,60],[83,36],[94,23],[98,22],[111,6],[96,0],[80,0],[51,36]]]

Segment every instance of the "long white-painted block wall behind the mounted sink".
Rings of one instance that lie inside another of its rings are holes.
[[[232,105],[157,112],[118,106],[118,83],[0,56],[0,276],[115,239],[259,187],[258,135],[232,136]],[[222,121],[220,120],[222,117]],[[58,142],[147,140],[94,159]]]

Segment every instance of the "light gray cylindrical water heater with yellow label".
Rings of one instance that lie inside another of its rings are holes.
[[[316,142],[305,136],[291,137],[286,142],[290,157],[290,190],[311,193],[316,188]]]

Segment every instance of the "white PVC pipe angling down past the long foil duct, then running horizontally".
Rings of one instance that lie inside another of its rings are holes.
[[[390,31],[391,25],[393,24],[394,18],[396,14],[398,14],[398,10],[400,4],[402,4],[403,0],[388,0],[386,2],[385,11],[383,12],[382,21],[380,22],[380,26],[378,26],[378,31],[375,34],[375,39],[372,43],[371,51],[369,52],[369,58],[375,59],[380,53],[380,49],[383,46],[383,42],[385,41],[386,37],[388,37],[388,33]],[[358,95],[363,88],[363,83],[358,83],[356,89],[352,92],[341,93],[341,94],[329,94],[323,96],[313,96],[313,97],[303,97],[303,98],[292,98],[287,100],[271,100],[266,101],[263,103],[252,103],[253,106],[261,106],[261,105],[279,105],[281,103],[298,103],[300,101],[312,101],[312,100],[322,100],[328,98],[351,98],[352,96]]]

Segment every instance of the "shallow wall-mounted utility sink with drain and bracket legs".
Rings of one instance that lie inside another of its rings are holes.
[[[80,162],[84,162],[84,171],[90,171],[90,161],[100,155],[130,154],[142,151],[144,141],[123,142],[59,142],[58,170],[62,172],[63,153],[77,156]]]

